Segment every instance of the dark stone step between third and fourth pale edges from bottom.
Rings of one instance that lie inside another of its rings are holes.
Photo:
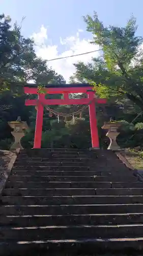
[[[3,215],[71,215],[71,214],[128,214],[143,212],[143,204],[84,204],[84,205],[3,205]]]

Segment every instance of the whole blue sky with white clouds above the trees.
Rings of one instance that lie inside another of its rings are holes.
[[[141,0],[0,0],[0,3],[1,13],[10,15],[13,22],[20,23],[25,16],[21,32],[35,38],[41,45],[36,48],[37,54],[45,59],[98,49],[89,44],[92,35],[86,32],[82,18],[92,15],[94,10],[104,25],[125,26],[133,14],[137,18],[137,34],[143,36]],[[68,79],[75,71],[74,62],[87,62],[92,56],[95,55],[51,61],[49,65]]]

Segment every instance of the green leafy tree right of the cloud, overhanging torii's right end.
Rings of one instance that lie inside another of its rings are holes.
[[[75,64],[72,77],[78,81],[91,82],[101,97],[129,99],[137,111],[143,110],[143,54],[142,37],[135,36],[136,19],[131,17],[125,28],[105,27],[94,16],[84,17],[87,31],[93,34],[92,44],[100,46],[102,54],[93,63]]]

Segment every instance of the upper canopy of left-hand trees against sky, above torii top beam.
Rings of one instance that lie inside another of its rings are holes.
[[[11,27],[11,18],[0,15],[0,93],[11,90],[22,93],[20,84],[33,80],[47,84],[65,82],[45,60],[37,57],[34,41],[21,35],[21,27],[16,23]]]

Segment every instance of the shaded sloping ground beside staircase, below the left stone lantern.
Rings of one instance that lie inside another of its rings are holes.
[[[0,150],[0,193],[11,171],[8,165],[14,156],[16,156],[14,152]]]

